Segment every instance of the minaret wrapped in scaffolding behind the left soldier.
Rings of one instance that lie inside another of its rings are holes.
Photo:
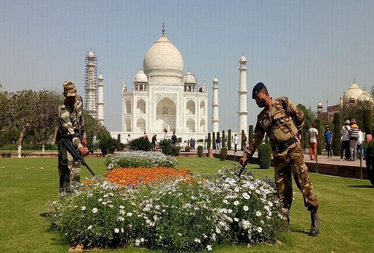
[[[86,54],[84,76],[85,110],[97,119],[97,58],[92,50]]]

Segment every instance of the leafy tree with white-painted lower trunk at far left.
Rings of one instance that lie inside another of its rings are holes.
[[[18,158],[21,158],[23,135],[27,128],[34,124],[37,116],[36,97],[36,92],[31,89],[19,90],[10,94],[7,116],[10,124],[21,130],[18,138]]]

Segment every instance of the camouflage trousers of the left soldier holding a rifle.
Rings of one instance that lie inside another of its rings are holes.
[[[80,160],[76,161],[67,150],[58,143],[58,175],[60,192],[71,192],[71,188],[80,182]]]

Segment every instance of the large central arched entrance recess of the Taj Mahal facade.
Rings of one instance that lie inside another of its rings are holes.
[[[163,131],[175,131],[177,125],[177,106],[168,97],[162,98],[156,107],[156,129]]]

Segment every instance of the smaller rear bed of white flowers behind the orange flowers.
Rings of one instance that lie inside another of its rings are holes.
[[[107,155],[104,163],[108,170],[128,167],[167,167],[176,168],[178,161],[175,157],[160,152],[118,152]]]

